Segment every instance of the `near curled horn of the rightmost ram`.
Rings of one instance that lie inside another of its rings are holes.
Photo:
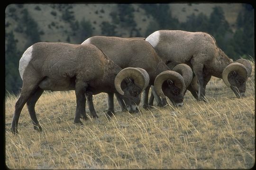
[[[243,64],[238,62],[231,63],[226,68],[224,68],[222,72],[222,79],[228,87],[230,87],[228,76],[231,71],[236,71],[239,76],[242,76],[245,78],[248,77],[247,68]]]

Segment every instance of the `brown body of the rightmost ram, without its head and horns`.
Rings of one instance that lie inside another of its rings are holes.
[[[157,36],[156,36],[157,35]],[[189,63],[199,80],[199,99],[204,99],[205,86],[211,76],[222,78],[223,69],[232,63],[219,49],[215,39],[204,32],[159,30],[149,35],[146,41],[167,64]]]

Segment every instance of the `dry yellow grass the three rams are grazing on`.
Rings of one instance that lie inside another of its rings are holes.
[[[243,169],[255,163],[255,74],[237,99],[221,79],[207,86],[208,103],[187,92],[182,108],[168,105],[107,119],[106,94],[94,96],[99,119],[73,124],[75,94],[44,93],[38,133],[25,107],[19,135],[10,132],[17,100],[6,96],[6,165],[11,169]]]

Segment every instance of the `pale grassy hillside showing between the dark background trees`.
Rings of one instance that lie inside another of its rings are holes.
[[[198,15],[200,12],[209,16],[212,12],[212,8],[220,6],[225,12],[225,17],[229,22],[229,25],[235,29],[235,22],[239,11],[242,9],[242,4],[169,4],[171,14],[177,18],[180,22],[185,22],[187,17],[192,13]],[[136,28],[140,31],[142,36],[146,36],[146,29],[150,22],[154,22],[152,16],[146,15],[145,10],[140,8],[138,4],[132,4],[135,9],[133,12]],[[69,36],[70,42],[82,43],[86,37],[79,37],[73,35],[72,25],[70,22],[64,20],[63,15],[66,11],[73,16],[70,20],[73,23],[75,21],[81,22],[82,19],[90,21],[92,24],[93,35],[102,35],[101,24],[103,21],[113,24],[110,13],[117,12],[117,4],[10,4],[7,6],[6,13],[6,32],[14,31],[15,39],[18,40],[18,50],[23,51],[27,48],[28,42],[27,35],[24,32],[20,32],[17,27],[22,27],[20,20],[22,18],[22,11],[27,9],[28,14],[35,22],[37,22],[38,31],[41,32],[40,39],[45,42],[67,42]],[[8,24],[7,24],[8,23]],[[116,31],[122,37],[129,36],[129,29],[121,27],[119,24]],[[23,26],[25,27],[25,26]],[[30,44],[29,44],[30,45]]]

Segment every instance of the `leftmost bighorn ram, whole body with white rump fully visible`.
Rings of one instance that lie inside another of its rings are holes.
[[[74,123],[82,124],[80,117],[88,119],[85,114],[85,93],[117,93],[128,106],[135,109],[149,81],[144,69],[122,69],[91,44],[35,43],[22,55],[19,73],[23,85],[11,123],[13,133],[18,133],[18,119],[25,103],[34,128],[42,130],[37,121],[35,104],[44,90],[75,90]],[[96,113],[92,112],[92,115],[98,117]]]

